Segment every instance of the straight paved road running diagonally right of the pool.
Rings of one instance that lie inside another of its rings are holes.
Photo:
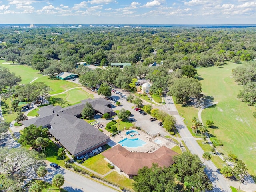
[[[166,105],[163,106],[163,109],[165,109],[166,112],[170,114],[174,114],[174,112],[177,112],[177,109],[175,107],[175,104],[172,100],[172,97],[166,96]],[[186,143],[188,149],[192,154],[197,154],[201,159],[202,155],[204,154],[204,151],[199,146],[199,144],[196,142],[195,138],[192,136],[186,125],[184,124],[182,118],[179,115],[174,115],[176,118],[176,128],[178,129],[181,138]],[[205,172],[208,175],[209,179],[212,181],[214,185],[214,192],[231,192],[231,189],[226,182],[225,178],[222,174],[218,171],[216,166],[212,163],[212,161],[206,161],[204,162],[204,165],[206,165]]]

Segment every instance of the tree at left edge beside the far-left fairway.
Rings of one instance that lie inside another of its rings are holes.
[[[4,92],[7,87],[12,87],[21,82],[20,76],[11,73],[8,68],[0,66],[0,92]]]

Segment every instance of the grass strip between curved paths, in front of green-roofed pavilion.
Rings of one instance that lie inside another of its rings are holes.
[[[78,84],[75,84],[73,82],[61,79],[52,79],[48,76],[41,76],[34,82],[44,82],[46,85],[50,86],[50,88],[52,89],[50,95],[62,93],[70,88],[79,87]]]

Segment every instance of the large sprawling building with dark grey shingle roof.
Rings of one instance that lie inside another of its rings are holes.
[[[108,139],[104,133],[79,118],[86,102],[91,103],[92,107],[102,114],[112,111],[111,102],[108,100],[103,98],[87,99],[65,108],[53,105],[44,106],[38,111],[40,116],[22,123],[25,127],[31,124],[48,127],[50,134],[70,154],[81,156],[106,144]]]

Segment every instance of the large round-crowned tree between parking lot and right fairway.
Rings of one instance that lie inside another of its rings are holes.
[[[168,95],[175,96],[178,102],[188,102],[190,96],[200,99],[202,97],[201,92],[202,87],[197,79],[180,78],[174,81]]]

